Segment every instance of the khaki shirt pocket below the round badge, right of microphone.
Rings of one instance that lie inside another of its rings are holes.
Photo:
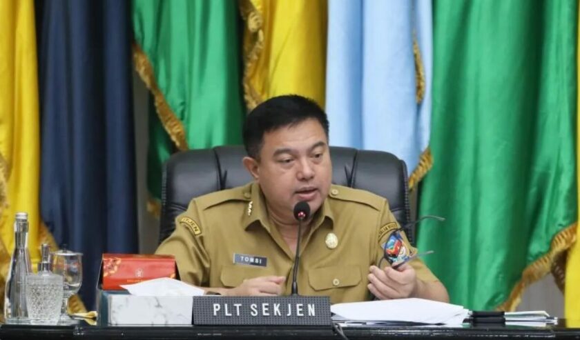
[[[361,281],[358,266],[330,266],[308,271],[308,282],[313,290],[358,286]]]

